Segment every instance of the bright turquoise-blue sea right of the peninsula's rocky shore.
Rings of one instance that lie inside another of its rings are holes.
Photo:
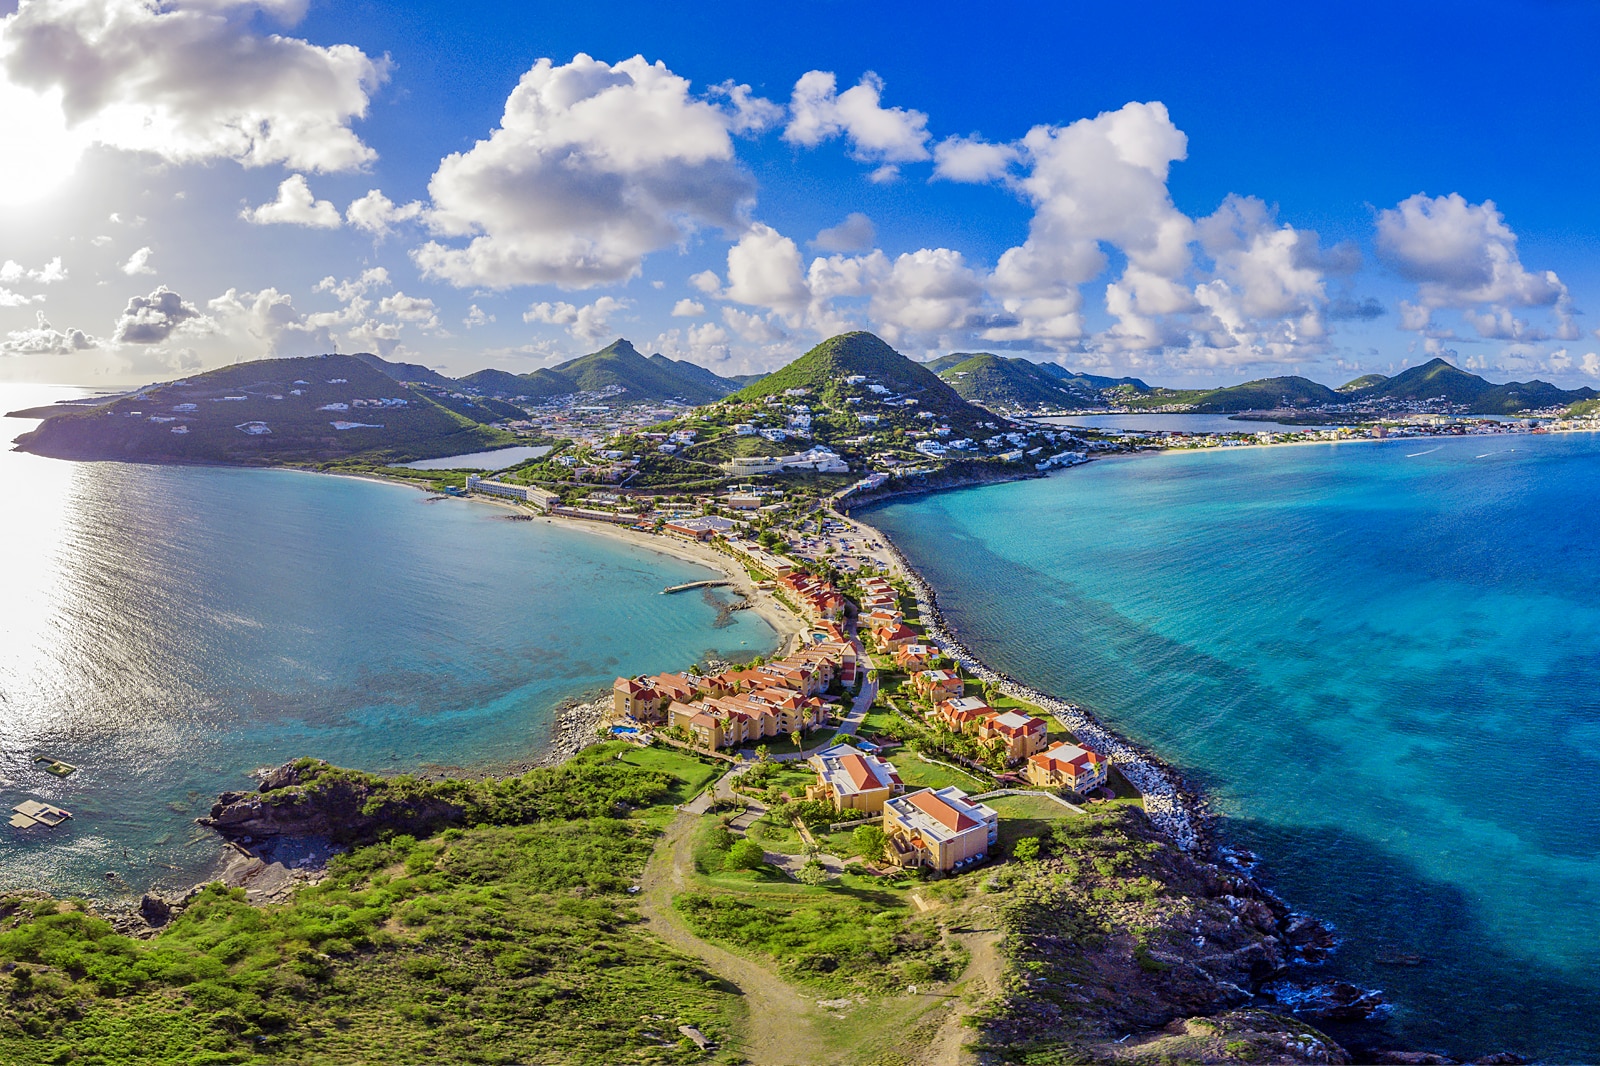
[[[1109,459],[866,517],[976,653],[1208,791],[1392,1045],[1600,1061],[1600,439]]]

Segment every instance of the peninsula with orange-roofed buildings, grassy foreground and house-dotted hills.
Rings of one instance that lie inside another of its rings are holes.
[[[562,719],[555,765],[509,778],[272,770],[202,820],[235,858],[184,898],[8,896],[0,1055],[1352,1060],[1314,1026],[1360,1040],[1384,1000],[1318,978],[1331,932],[1170,767],[978,661],[845,512],[1136,443],[971,403],[870,335],[698,408],[280,363],[43,411],[19,447],[362,472],[581,523],[718,567],[786,647],[619,677]],[[344,443],[363,429],[389,435]],[[530,437],[552,450],[493,477],[390,466]],[[306,840],[326,866],[283,861]]]

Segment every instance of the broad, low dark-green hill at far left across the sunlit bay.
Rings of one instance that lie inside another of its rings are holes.
[[[50,413],[16,445],[62,459],[403,463],[514,442],[354,355],[317,355],[237,363]]]

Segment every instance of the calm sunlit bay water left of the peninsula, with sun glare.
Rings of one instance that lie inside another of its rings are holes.
[[[0,386],[0,411],[66,394]],[[0,808],[75,815],[0,823],[0,888],[187,887],[218,853],[192,820],[256,767],[525,760],[618,674],[776,645],[659,595],[702,567],[413,488],[0,451]]]

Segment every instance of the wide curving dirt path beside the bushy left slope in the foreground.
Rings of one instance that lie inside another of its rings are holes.
[[[638,909],[650,932],[738,986],[746,1007],[741,1050],[752,1063],[813,1066],[827,1061],[829,1050],[814,1032],[814,999],[806,999],[765,967],[699,940],[672,909],[674,893],[683,890],[686,872],[693,869],[690,829],[694,821],[694,815],[677,816],[640,879]]]

